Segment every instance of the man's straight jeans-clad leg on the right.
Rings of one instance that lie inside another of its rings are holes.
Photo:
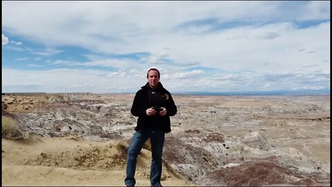
[[[161,130],[154,131],[150,137],[151,139],[151,172],[150,181],[151,186],[161,186],[161,171],[163,167],[163,147],[165,142],[165,133]]]

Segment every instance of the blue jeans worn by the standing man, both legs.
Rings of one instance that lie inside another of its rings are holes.
[[[144,143],[149,138],[151,141],[152,152],[150,182],[151,186],[160,185],[161,170],[163,166],[163,159],[161,157],[163,156],[165,133],[161,130],[144,130],[140,132],[136,131],[135,134],[133,134],[133,139],[131,139],[129,145],[126,168],[127,177],[124,179],[124,184],[126,184],[126,186],[134,186],[136,184],[134,176],[137,157],[138,154],[140,154],[140,150],[142,150]]]

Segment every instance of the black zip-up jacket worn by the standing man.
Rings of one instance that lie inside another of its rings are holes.
[[[165,107],[167,110],[166,116],[160,116],[159,114],[147,116],[146,110],[151,107]],[[174,116],[176,112],[176,105],[171,94],[160,82],[157,89],[151,89],[149,82],[147,82],[142,89],[137,91],[131,107],[131,114],[138,116],[136,131],[160,129],[165,133],[171,132],[169,116]]]

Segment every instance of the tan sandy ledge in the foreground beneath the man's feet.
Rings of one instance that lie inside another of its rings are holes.
[[[119,142],[80,136],[2,140],[2,186],[124,186],[124,154]],[[151,152],[138,157],[136,186],[149,186]],[[163,167],[164,186],[192,186]]]

